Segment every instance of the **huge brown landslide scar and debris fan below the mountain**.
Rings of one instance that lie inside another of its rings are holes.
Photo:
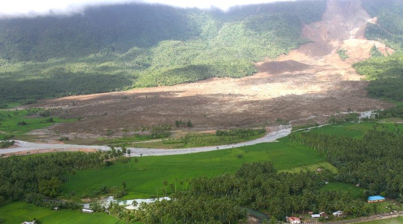
[[[327,2],[322,20],[304,24],[301,35],[312,40],[276,60],[256,63],[259,72],[241,79],[213,78],[170,87],[48,99],[35,107],[61,107],[55,115],[81,117],[51,129],[57,135],[105,135],[106,129],[133,129],[191,120],[194,128],[217,129],[270,125],[345,111],[367,111],[390,105],[367,97],[352,64],[370,57],[375,45],[366,40],[376,22],[359,0]],[[341,60],[337,51],[350,55]]]

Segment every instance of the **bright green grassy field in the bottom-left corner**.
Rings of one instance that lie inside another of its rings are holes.
[[[48,208],[38,207],[24,202],[13,202],[0,207],[0,217],[6,219],[5,224],[21,223],[23,221],[32,221],[37,218],[41,223],[60,223],[60,224],[123,224],[118,218],[105,213],[83,213],[80,210],[62,209],[54,211]]]

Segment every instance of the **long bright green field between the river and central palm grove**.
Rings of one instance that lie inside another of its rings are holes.
[[[222,173],[233,173],[243,163],[272,161],[278,170],[292,169],[299,166],[318,164],[325,161],[323,156],[316,155],[313,150],[288,142],[282,138],[280,142],[260,143],[250,146],[231,148],[213,152],[194,153],[175,156],[151,156],[138,158],[123,165],[103,167],[98,170],[83,170],[65,182],[63,193],[75,191],[76,194],[92,192],[102,185],[120,187],[126,182],[127,195],[124,198],[148,198],[162,194],[164,180],[175,184],[178,190],[186,188],[187,178],[212,177]],[[184,184],[180,185],[180,181]]]

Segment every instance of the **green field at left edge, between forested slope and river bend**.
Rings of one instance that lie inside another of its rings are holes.
[[[35,111],[35,112],[34,112]],[[41,113],[42,109],[34,110],[0,110],[0,140],[7,137],[17,139],[21,135],[26,134],[34,129],[48,127],[54,123],[64,123],[75,121],[75,119],[62,119],[58,117],[41,117],[38,115],[30,115],[33,113]],[[53,121],[48,119],[52,118]],[[25,125],[19,125],[25,122]],[[14,135],[14,137],[11,137]]]

